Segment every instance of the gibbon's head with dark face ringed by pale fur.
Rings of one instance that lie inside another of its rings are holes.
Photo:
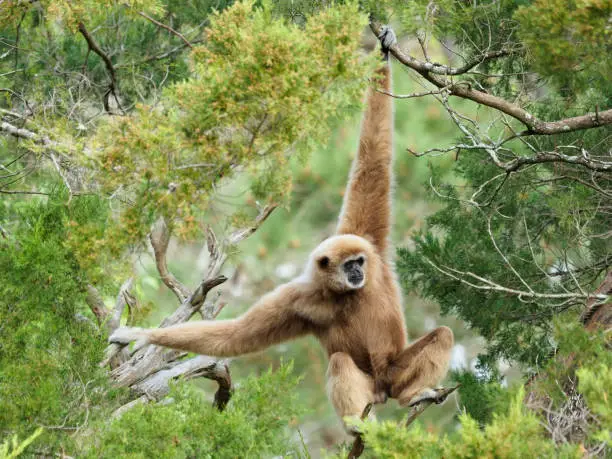
[[[335,292],[359,290],[368,281],[372,253],[372,245],[362,237],[350,234],[331,237],[313,252],[315,278]]]

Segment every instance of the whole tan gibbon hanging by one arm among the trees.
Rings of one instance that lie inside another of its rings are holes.
[[[382,88],[391,90],[391,29],[379,36]],[[401,406],[433,397],[445,376],[453,333],[437,328],[407,345],[401,294],[389,257],[392,98],[373,88],[336,234],[310,255],[303,273],[232,320],[167,328],[121,328],[111,343],[156,344],[218,357],[260,351],[314,335],[329,356],[327,392],[341,419],[387,397]]]

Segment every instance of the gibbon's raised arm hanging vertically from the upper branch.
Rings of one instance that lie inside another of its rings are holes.
[[[381,36],[384,66],[377,71],[378,89],[391,90],[389,46],[395,36],[384,28]],[[338,234],[356,234],[369,239],[386,256],[391,226],[391,162],[393,159],[392,98],[370,88],[361,126],[359,150],[344,195]]]

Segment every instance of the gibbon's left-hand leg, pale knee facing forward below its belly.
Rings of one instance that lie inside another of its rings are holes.
[[[384,401],[374,393],[374,378],[361,371],[344,352],[335,352],[329,358],[327,395],[345,428],[353,434],[357,432],[346,425],[344,418],[360,419],[368,403]]]

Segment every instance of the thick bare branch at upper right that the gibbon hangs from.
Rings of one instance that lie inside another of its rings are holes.
[[[381,27],[382,24],[378,22],[370,22],[370,28],[376,36],[379,35]],[[465,81],[454,83],[447,78],[440,76],[459,75],[461,72],[466,73],[480,62],[476,62],[475,64],[474,62],[470,62],[469,65],[473,65],[463,71],[465,66],[459,69],[452,69],[446,66],[432,64],[430,62],[422,62],[410,56],[408,53],[405,53],[398,44],[392,45],[389,48],[389,51],[399,62],[404,64],[406,67],[415,70],[437,88],[447,88],[450,95],[457,96],[462,99],[472,100],[481,105],[486,105],[487,107],[499,110],[500,112],[519,120],[527,127],[527,129],[520,134],[521,136],[535,134],[562,134],[612,124],[612,109],[587,113],[585,115],[565,118],[558,121],[542,121],[529,113],[527,110],[512,102],[477,89],[472,89],[471,86]],[[492,55],[490,58],[500,57],[503,55],[503,53],[498,56]],[[451,70],[459,73],[452,73],[450,72]]]

